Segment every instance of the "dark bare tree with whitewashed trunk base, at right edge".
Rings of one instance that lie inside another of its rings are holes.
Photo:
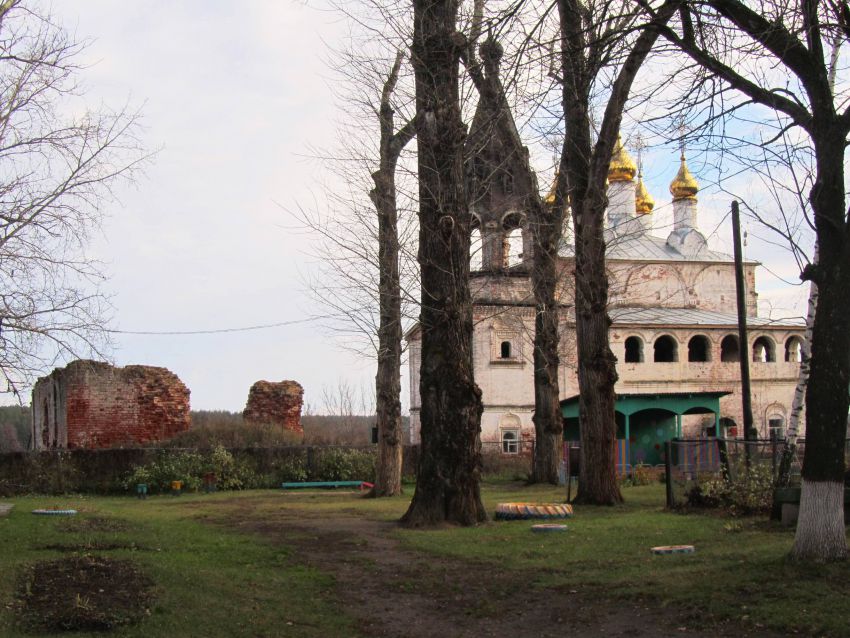
[[[809,201],[818,263],[806,266],[802,277],[817,285],[818,306],[806,389],[803,496],[792,554],[802,560],[844,559],[844,438],[850,403],[844,153],[850,108],[846,78],[839,79],[837,89],[831,86],[828,51],[830,43],[850,36],[850,14],[846,4],[814,0],[708,0],[688,3],[680,18],[664,36],[720,80],[714,94],[731,100],[722,104],[722,114],[745,117],[748,105],[760,106],[775,117],[777,136],[800,134],[814,158]]]

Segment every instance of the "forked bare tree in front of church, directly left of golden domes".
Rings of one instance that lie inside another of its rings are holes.
[[[614,384],[617,371],[608,341],[608,278],[603,225],[605,184],[632,83],[670,19],[666,1],[641,24],[634,13],[607,2],[558,0],[564,145],[556,205],[569,200],[575,228],[575,307],[578,345],[581,469],[578,500],[622,501],[612,449],[616,436]],[[594,91],[610,83],[596,140],[591,119]]]

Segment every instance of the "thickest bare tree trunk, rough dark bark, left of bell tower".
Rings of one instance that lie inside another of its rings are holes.
[[[414,0],[413,67],[422,269],[422,445],[416,492],[401,522],[474,525],[481,502],[481,391],[472,368],[471,215],[466,203],[457,0]]]

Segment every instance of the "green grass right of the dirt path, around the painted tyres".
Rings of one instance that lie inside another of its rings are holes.
[[[564,534],[533,534],[527,521],[477,529],[404,532],[417,551],[529,570],[530,585],[643,598],[752,627],[850,635],[850,566],[801,566],[787,559],[793,531],[764,518],[679,514],[663,509],[663,486],[624,489],[617,507],[576,507]],[[560,490],[485,491],[497,502],[563,500]],[[693,555],[655,556],[657,545],[694,545]]]

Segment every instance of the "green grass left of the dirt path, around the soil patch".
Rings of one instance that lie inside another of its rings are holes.
[[[256,493],[246,494],[249,498]],[[328,575],[300,566],[286,547],[203,523],[232,494],[130,498],[19,498],[0,518],[0,635],[22,635],[6,605],[24,563],[63,554],[35,549],[93,539],[136,544],[109,556],[132,558],[156,582],[151,615],[116,636],[350,636],[348,619],[333,607]],[[120,532],[66,532],[60,517],[34,516],[39,507],[70,507],[80,515],[128,522]],[[77,636],[89,634],[77,633]],[[103,634],[93,634],[102,636]]]

